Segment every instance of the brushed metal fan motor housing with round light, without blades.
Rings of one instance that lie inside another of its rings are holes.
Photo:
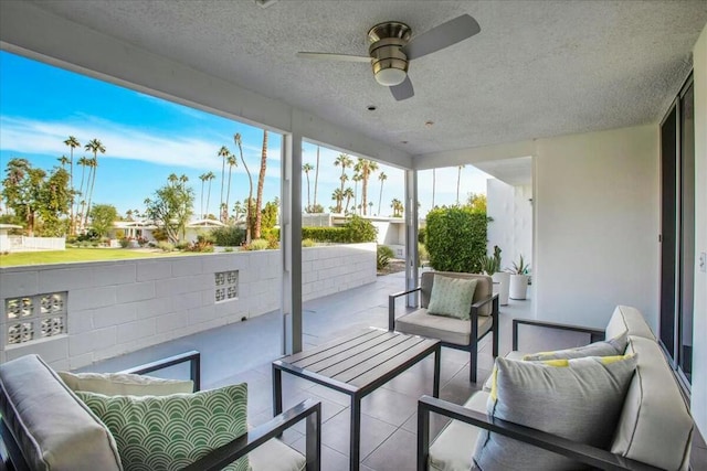
[[[408,44],[410,35],[410,26],[394,21],[377,24],[368,32],[371,42],[368,53],[379,84],[399,85],[408,76],[408,56],[402,47]]]

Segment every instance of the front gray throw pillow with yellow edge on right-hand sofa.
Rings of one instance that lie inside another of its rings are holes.
[[[548,362],[497,358],[488,414],[608,449],[635,366],[633,355]],[[581,468],[568,458],[487,430],[478,436],[474,463],[483,471]]]

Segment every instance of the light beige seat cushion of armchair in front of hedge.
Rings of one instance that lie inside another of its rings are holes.
[[[490,317],[477,318],[478,336],[490,330],[494,322]],[[455,318],[430,315],[426,309],[418,309],[395,319],[395,330],[411,335],[440,339],[455,345],[468,345],[472,338],[472,322]]]

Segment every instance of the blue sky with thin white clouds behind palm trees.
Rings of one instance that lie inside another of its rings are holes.
[[[15,157],[32,165],[52,169],[61,156],[70,156],[63,143],[75,136],[82,148],[74,151],[74,161],[92,157],[83,150],[91,139],[99,139],[106,148],[98,154],[94,203],[113,204],[120,214],[128,210],[144,211],[144,200],[152,196],[170,173],[186,174],[196,192],[194,210],[199,212],[201,181],[199,175],[212,171],[209,212],[217,213],[221,189],[221,146],[238,152],[233,135],[243,138],[243,154],[253,174],[260,170],[263,130],[235,120],[177,105],[98,79],[64,71],[8,52],[0,52],[0,164],[4,178],[7,162]],[[340,169],[334,167],[338,151],[320,149],[318,203],[328,207],[330,195],[339,186]],[[281,136],[268,133],[267,173],[264,197],[279,195]],[[352,156],[355,157],[355,156]],[[316,146],[305,143],[303,162],[315,164]],[[381,165],[388,175],[383,184],[381,214],[391,213],[393,197],[403,200],[403,172]],[[226,169],[228,172],[228,169]],[[349,170],[349,174],[351,171]],[[378,210],[380,182],[374,175],[369,185],[369,201]],[[453,204],[456,200],[457,169],[436,171],[436,204]],[[467,193],[485,193],[486,179],[467,165],[462,171],[461,197]],[[74,186],[78,188],[81,168],[74,167]],[[314,173],[310,174],[314,192]],[[421,214],[432,201],[432,172],[420,172]],[[205,193],[207,190],[204,190]],[[240,162],[233,169],[231,206],[247,196],[249,183]],[[360,192],[360,188],[359,188]],[[205,196],[204,196],[205,200]],[[303,204],[306,204],[306,181],[303,175]]]

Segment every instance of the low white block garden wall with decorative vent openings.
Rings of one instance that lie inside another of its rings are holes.
[[[376,244],[303,248],[305,301],[376,281]],[[0,268],[0,363],[74,370],[279,309],[279,250]]]

